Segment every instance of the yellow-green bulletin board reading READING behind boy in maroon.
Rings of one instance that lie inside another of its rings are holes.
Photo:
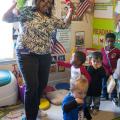
[[[114,21],[115,2],[112,0],[106,0],[105,2],[104,1],[96,0],[95,2],[95,10],[93,17],[92,47],[97,49],[103,47],[106,33],[108,32],[115,33],[115,21]],[[107,13],[110,14],[107,15]],[[120,33],[115,34],[116,34],[115,46],[120,48]]]

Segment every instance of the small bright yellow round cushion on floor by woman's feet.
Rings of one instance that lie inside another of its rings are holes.
[[[47,110],[50,107],[50,102],[46,98],[41,98],[39,109],[40,110]]]

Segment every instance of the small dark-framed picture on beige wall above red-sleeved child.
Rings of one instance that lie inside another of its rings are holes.
[[[85,32],[84,31],[78,31],[75,33],[75,46],[83,46],[85,41]]]

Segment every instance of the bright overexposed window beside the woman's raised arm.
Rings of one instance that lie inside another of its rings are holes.
[[[2,16],[11,3],[12,0],[2,0],[0,4],[0,61],[14,58],[13,24],[2,21]]]

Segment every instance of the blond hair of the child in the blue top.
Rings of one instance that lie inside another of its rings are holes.
[[[84,77],[84,75],[81,75],[81,78],[72,83],[70,89],[71,91],[82,90],[86,93],[88,90],[88,80]]]

